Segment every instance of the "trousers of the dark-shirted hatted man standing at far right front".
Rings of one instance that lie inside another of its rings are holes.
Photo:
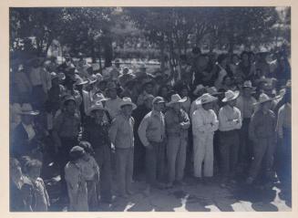
[[[249,172],[250,177],[255,179],[262,167],[262,161],[265,164],[266,175],[272,172],[273,154],[275,150],[272,138],[257,139],[253,144],[253,160]]]

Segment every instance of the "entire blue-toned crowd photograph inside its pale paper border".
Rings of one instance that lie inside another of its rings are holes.
[[[11,213],[292,212],[291,6],[8,10]]]

